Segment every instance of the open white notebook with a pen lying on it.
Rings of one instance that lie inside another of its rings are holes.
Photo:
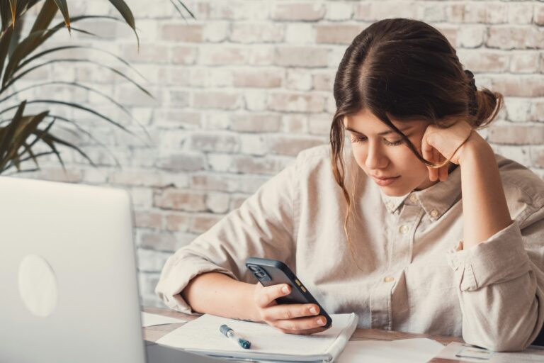
[[[224,359],[256,359],[275,362],[334,362],[355,331],[358,316],[333,314],[332,326],[322,333],[293,335],[281,333],[262,323],[202,315],[157,340],[159,345]],[[219,331],[229,325],[251,342],[249,350],[235,345]]]

